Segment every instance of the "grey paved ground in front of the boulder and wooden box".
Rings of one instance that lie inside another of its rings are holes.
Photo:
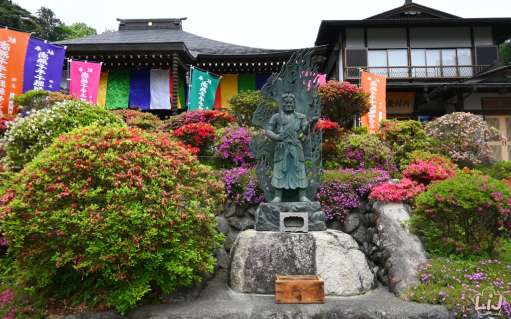
[[[324,304],[275,304],[274,295],[247,295],[231,290],[220,272],[195,301],[143,306],[121,316],[114,312],[52,316],[51,319],[447,319],[442,306],[400,301],[380,287],[363,296],[326,297]]]

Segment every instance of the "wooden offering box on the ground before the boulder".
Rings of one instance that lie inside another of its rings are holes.
[[[324,281],[320,276],[276,276],[275,303],[324,304]]]

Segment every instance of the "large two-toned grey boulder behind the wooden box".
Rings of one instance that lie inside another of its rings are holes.
[[[326,296],[360,295],[377,284],[358,244],[343,232],[241,232],[227,284],[243,293],[274,293],[277,275],[319,275]]]

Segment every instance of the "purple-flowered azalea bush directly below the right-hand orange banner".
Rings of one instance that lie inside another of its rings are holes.
[[[345,135],[335,144],[334,153],[334,158],[325,163],[328,169],[378,168],[397,174],[394,154],[376,135]]]

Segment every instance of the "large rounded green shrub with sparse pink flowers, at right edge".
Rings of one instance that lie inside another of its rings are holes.
[[[510,209],[511,189],[503,181],[464,170],[420,194],[410,224],[424,233],[430,252],[494,255],[511,229]]]

